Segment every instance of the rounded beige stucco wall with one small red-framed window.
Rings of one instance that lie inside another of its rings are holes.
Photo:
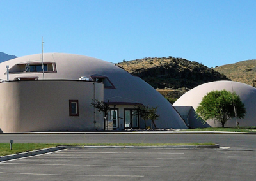
[[[95,86],[94,86],[95,85]],[[102,83],[75,80],[35,80],[0,83],[0,129],[20,131],[86,131],[103,115],[90,106],[103,100]],[[69,115],[69,100],[79,101],[79,116]]]

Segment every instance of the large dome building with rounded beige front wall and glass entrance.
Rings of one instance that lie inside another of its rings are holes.
[[[168,101],[148,83],[114,64],[75,54],[46,53],[0,64],[0,129],[86,131],[145,128],[134,106],[157,106],[157,128],[187,129]],[[90,106],[109,104],[108,120]],[[147,122],[150,126],[150,122]]]

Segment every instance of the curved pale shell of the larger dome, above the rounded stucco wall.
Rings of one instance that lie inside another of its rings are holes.
[[[0,78],[6,80],[6,66],[10,67],[9,80],[19,78],[43,79],[42,73],[26,73],[21,64],[42,64],[41,54],[18,57],[0,64]],[[186,124],[172,105],[148,83],[141,78],[132,76],[124,69],[114,64],[92,57],[76,54],[45,53],[44,64],[51,64],[51,71],[44,73],[45,80],[78,80],[86,76],[92,80],[92,76],[104,76],[112,83],[111,89],[104,89],[105,101],[119,101],[142,103],[143,105],[157,106],[160,115],[156,120],[157,128],[187,129]],[[17,73],[19,71],[19,73]],[[115,88],[115,89],[114,89]]]

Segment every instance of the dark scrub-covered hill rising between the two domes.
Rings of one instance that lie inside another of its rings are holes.
[[[202,83],[228,80],[225,75],[203,64],[171,56],[123,61],[116,66],[139,76],[155,89],[192,89]]]

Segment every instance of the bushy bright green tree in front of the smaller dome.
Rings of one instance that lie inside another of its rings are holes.
[[[216,119],[222,127],[229,119],[244,118],[246,114],[244,104],[236,92],[232,93],[225,89],[206,94],[196,108],[196,112],[204,122],[208,119]]]

